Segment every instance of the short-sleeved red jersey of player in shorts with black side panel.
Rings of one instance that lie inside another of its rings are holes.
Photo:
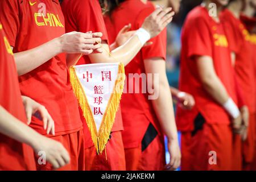
[[[118,32],[125,25],[131,23],[131,30],[138,30],[142,26],[144,19],[154,10],[155,7],[150,1],[147,1],[147,3],[143,3],[140,0],[122,2],[114,10],[112,19],[109,17],[105,18],[110,44],[114,42]],[[165,60],[166,40],[167,33],[164,30],[159,36],[150,40],[153,42],[151,46],[143,47],[137,56],[125,67],[127,84],[121,100],[123,126],[125,129],[122,132],[122,137],[125,148],[139,147],[150,123],[154,125],[159,134],[162,133],[152,103],[148,100],[148,93],[142,92],[142,84],[144,83],[142,83],[141,79],[139,82],[134,81],[134,77],[129,77],[129,75],[138,74],[143,77],[145,74],[143,60],[145,59],[161,57]],[[133,84],[133,88],[129,88],[130,84]],[[139,93],[136,92],[137,88],[139,88]],[[133,92],[127,92],[129,89]]]

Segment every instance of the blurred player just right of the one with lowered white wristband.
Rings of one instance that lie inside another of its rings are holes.
[[[249,127],[247,139],[242,144],[243,169],[248,169],[254,158],[254,140],[255,140],[255,75],[254,58],[251,49],[250,33],[245,24],[240,20],[242,8],[245,7],[245,1],[232,0],[227,9],[221,14],[221,19],[225,23],[228,31],[228,42],[231,51],[234,53],[234,68],[237,75],[238,85],[241,88],[243,100],[249,109]],[[242,107],[247,110],[247,108]]]

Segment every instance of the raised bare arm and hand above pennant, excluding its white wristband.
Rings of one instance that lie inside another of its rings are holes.
[[[171,12],[171,8],[156,9],[149,15],[142,24],[142,28],[150,34],[148,40],[158,35],[171,22],[172,16],[174,16],[174,12]],[[89,55],[89,58],[92,63],[122,62],[127,65],[144,46],[144,43],[141,42],[139,35],[135,33],[125,44],[110,52],[108,43],[102,41],[103,53]],[[112,47],[116,47],[116,45],[112,45]]]

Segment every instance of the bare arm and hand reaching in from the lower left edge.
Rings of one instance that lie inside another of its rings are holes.
[[[34,148],[36,154],[39,151],[45,151],[46,160],[54,168],[59,168],[69,163],[69,154],[59,142],[43,137],[31,127],[16,119],[2,106],[0,106],[0,133],[18,142],[28,144]]]

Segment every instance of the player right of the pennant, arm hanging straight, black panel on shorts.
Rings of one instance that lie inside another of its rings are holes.
[[[114,42],[117,32],[125,24],[131,23],[131,29],[141,27],[144,18],[154,11],[150,1],[108,1],[112,7],[105,22],[110,36],[110,43]],[[167,1],[164,1],[167,3]],[[180,165],[180,150],[177,141],[177,131],[172,108],[172,98],[166,76],[166,30],[151,39],[152,45],[141,49],[137,56],[125,67],[127,90],[121,100],[124,131],[122,133],[125,147],[127,170],[174,170]],[[134,76],[129,76],[134,75]],[[139,76],[139,82],[136,75]],[[151,79],[143,80],[144,75],[159,76],[156,84]],[[142,85],[152,85],[159,90],[158,97],[148,100],[149,93],[142,93]],[[135,92],[139,89],[140,92]],[[166,166],[164,158],[164,134],[168,138],[168,149],[171,162]]]

